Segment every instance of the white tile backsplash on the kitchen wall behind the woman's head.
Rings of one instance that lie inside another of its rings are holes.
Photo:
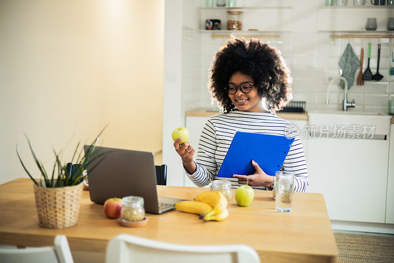
[[[280,32],[279,38],[261,38],[277,47],[291,68],[293,76],[293,100],[306,101],[306,110],[341,109],[343,89],[331,85],[329,105],[325,104],[328,77],[340,76],[339,59],[350,43],[360,59],[364,50],[363,70],[367,66],[368,42],[371,42],[370,68],[376,73],[378,43],[381,43],[379,73],[381,81],[364,81],[357,86],[356,70],[353,86],[348,90],[348,100],[355,100],[352,111],[388,112],[388,100],[394,99],[394,76],[390,75],[392,40],[387,38],[331,38],[330,33]],[[211,105],[206,89],[208,71],[213,56],[225,38],[212,38],[211,33],[200,32],[188,27],[183,30],[183,112]]]

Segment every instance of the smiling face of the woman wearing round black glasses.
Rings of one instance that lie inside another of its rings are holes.
[[[251,85],[255,84],[252,76],[242,74],[240,71],[236,71],[231,75],[229,84],[231,83],[238,87],[235,94],[229,94],[232,104],[240,111],[266,112],[263,108],[262,98],[257,92],[257,86],[252,87],[249,93],[243,93],[239,85],[244,82],[248,82]]]

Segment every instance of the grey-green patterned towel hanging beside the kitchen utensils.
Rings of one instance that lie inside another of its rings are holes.
[[[346,78],[348,81],[348,89],[350,89],[354,82],[356,70],[360,67],[360,60],[354,53],[350,44],[347,44],[342,57],[339,59],[338,65],[341,67],[342,77]],[[345,82],[343,82],[343,80],[341,80],[339,85],[342,87],[342,89],[345,88]]]

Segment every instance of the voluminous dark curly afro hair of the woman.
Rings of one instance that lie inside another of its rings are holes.
[[[269,111],[275,113],[293,99],[290,69],[275,47],[261,40],[231,36],[215,54],[210,67],[208,90],[212,103],[216,100],[221,111],[235,109],[225,87],[233,73],[250,75],[265,99]]]

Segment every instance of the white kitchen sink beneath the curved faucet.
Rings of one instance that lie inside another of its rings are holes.
[[[308,125],[315,127],[317,130],[320,127],[330,129],[332,132],[334,127],[346,127],[345,130],[373,129],[374,135],[389,135],[390,134],[390,120],[392,116],[381,112],[368,111],[308,111]],[[375,126],[375,128],[371,128]],[[326,129],[327,130],[327,129]]]

